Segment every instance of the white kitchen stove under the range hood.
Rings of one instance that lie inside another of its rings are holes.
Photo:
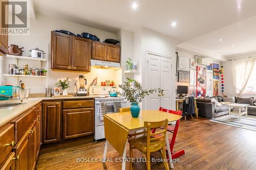
[[[105,133],[104,133],[104,122],[103,120],[100,120],[99,117],[99,107],[101,102],[106,103],[106,114],[109,113],[115,113],[118,111],[115,111],[115,106],[114,102],[120,102],[121,107],[129,107],[129,102],[122,97],[122,96],[117,96],[117,97],[110,97],[109,96],[109,91],[113,87],[106,87],[106,86],[91,86],[90,87],[90,95],[99,95],[99,97],[95,98],[95,132],[94,132],[94,139],[99,140],[99,139],[104,139],[105,138]]]

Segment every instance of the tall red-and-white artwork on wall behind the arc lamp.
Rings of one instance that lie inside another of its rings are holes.
[[[204,66],[197,66],[197,71],[202,76],[202,78],[206,79],[206,68]],[[197,79],[199,78],[199,75],[197,74]],[[201,84],[197,81],[197,97],[205,97],[206,93],[206,84]]]

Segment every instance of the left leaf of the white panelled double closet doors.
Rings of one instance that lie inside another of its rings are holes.
[[[161,58],[147,54],[146,89],[161,88]],[[146,110],[158,110],[161,104],[158,93],[146,96]]]

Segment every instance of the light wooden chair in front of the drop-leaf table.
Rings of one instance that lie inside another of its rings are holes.
[[[144,122],[144,128],[146,131],[141,132],[142,135],[137,135],[128,139],[130,143],[130,157],[133,158],[133,149],[141,151],[144,158],[146,158],[147,170],[151,169],[150,166],[150,153],[161,151],[163,159],[166,160],[165,151],[165,137],[167,132],[168,120],[162,120],[160,122]],[[151,128],[163,127],[162,131],[152,133]],[[157,135],[157,137],[156,137]],[[130,169],[133,169],[132,162],[130,162]],[[167,161],[164,162],[165,169],[169,169]]]

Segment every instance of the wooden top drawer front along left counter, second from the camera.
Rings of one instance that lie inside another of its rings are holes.
[[[22,114],[14,120],[15,124],[15,142],[22,138],[23,134],[29,129],[36,119],[36,107],[32,107],[29,111]]]

